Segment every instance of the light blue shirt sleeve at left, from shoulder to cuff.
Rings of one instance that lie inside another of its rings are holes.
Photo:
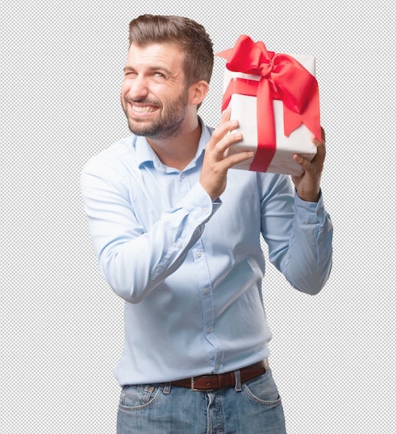
[[[124,300],[143,300],[183,263],[220,203],[197,183],[149,231],[136,218],[118,168],[96,158],[81,174],[82,200],[100,272]]]

